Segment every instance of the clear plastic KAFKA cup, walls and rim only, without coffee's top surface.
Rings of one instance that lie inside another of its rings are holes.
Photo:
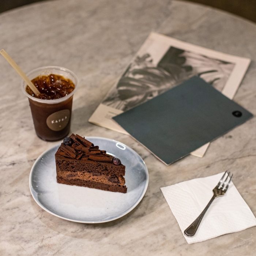
[[[42,140],[56,141],[63,139],[69,133],[71,123],[73,95],[78,87],[77,76],[67,68],[46,66],[33,69],[27,73],[30,80],[39,75],[61,75],[69,78],[75,89],[59,99],[38,99],[26,92],[27,84],[22,80],[21,89],[29,98],[29,105],[34,121],[35,132]]]

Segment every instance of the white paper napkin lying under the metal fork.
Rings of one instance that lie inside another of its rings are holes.
[[[195,236],[187,237],[184,235],[184,230],[198,217],[210,201],[213,195],[212,189],[217,185],[222,175],[223,173],[219,173],[161,188],[188,244],[256,226],[255,216],[231,182],[226,194],[214,199]]]

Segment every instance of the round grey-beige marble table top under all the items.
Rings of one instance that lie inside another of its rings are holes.
[[[232,170],[256,213],[256,118],[211,143],[203,158],[170,166],[129,136],[88,123],[114,80],[151,31],[252,59],[234,100],[256,115],[256,25],[182,1],[56,0],[0,15],[0,48],[28,72],[44,65],[74,71],[80,88],[71,132],[119,140],[144,159],[149,185],[142,202],[116,221],[89,225],[42,210],[29,190],[35,159],[54,143],[34,132],[20,78],[0,59],[0,255],[252,255],[256,228],[188,245],[160,187]]]

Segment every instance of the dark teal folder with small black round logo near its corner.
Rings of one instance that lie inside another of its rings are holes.
[[[168,165],[252,116],[194,76],[113,119]]]

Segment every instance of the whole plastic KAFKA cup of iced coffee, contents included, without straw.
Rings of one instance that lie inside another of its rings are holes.
[[[77,88],[76,76],[60,67],[42,67],[27,75],[40,92],[35,95],[22,82],[22,89],[29,98],[35,132],[43,140],[63,139],[70,129],[73,94]]]

